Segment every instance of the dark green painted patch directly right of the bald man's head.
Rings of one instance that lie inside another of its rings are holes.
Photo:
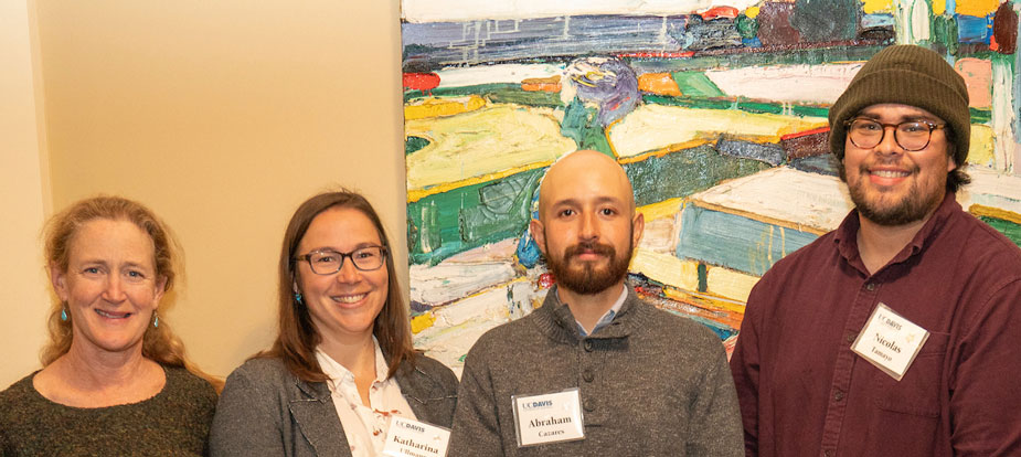
[[[758,160],[722,156],[709,145],[624,164],[639,206],[688,196],[723,180],[746,177],[767,168],[770,168],[768,163]]]

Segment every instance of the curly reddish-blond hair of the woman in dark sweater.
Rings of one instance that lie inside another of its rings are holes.
[[[179,280],[177,272],[182,268],[181,249],[170,228],[141,203],[120,196],[94,196],[72,204],[70,208],[50,219],[45,227],[46,263],[51,268],[67,272],[72,242],[78,230],[97,219],[127,221],[134,223],[152,240],[153,264],[157,278],[166,280],[164,297],[170,295]],[[52,281],[51,281],[52,283]],[[161,309],[169,309],[173,300],[164,299]],[[54,299],[50,308],[47,327],[50,341],[43,347],[40,360],[43,366],[53,363],[71,349],[73,320],[61,319],[64,304]],[[164,315],[166,316],[166,315]],[[168,366],[184,368],[193,374],[205,379],[219,391],[223,382],[194,366],[184,355],[184,344],[170,328],[167,318],[160,319],[159,327],[149,326],[142,337],[142,357]]]

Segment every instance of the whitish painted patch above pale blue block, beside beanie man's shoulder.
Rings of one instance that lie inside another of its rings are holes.
[[[853,208],[848,187],[837,177],[787,167],[723,182],[690,200],[827,232],[837,228]]]

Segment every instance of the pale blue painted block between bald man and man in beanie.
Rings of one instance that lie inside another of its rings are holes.
[[[677,256],[762,276],[818,236],[689,204],[681,213]]]

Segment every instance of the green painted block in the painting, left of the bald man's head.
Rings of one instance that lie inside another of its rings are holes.
[[[529,225],[529,206],[544,169],[466,185],[407,204],[412,264],[444,258],[519,236]]]

